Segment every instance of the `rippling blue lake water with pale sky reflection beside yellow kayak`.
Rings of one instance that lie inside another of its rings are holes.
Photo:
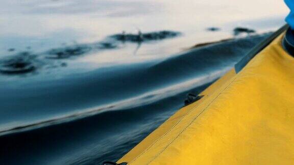
[[[116,161],[287,13],[277,0],[0,0],[0,164]]]

